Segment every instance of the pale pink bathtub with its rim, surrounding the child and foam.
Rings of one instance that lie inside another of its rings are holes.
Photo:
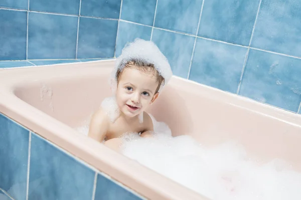
[[[111,95],[108,77],[114,62],[0,70],[0,112],[91,168],[92,198],[102,195],[97,181],[103,176],[136,198],[208,199],[75,130]],[[173,136],[191,135],[206,146],[236,140],[258,162],[282,158],[301,171],[301,115],[176,76],[147,111],[166,122]],[[30,159],[26,195],[31,193]]]

